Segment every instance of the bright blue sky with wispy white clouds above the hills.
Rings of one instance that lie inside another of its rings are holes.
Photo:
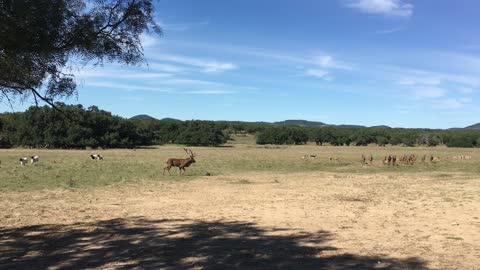
[[[156,10],[164,34],[142,36],[148,65],[79,69],[68,103],[183,120],[480,122],[478,1],[160,0]]]

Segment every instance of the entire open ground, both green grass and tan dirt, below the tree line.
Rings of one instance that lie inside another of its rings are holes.
[[[1,150],[0,269],[478,269],[478,149],[192,149]]]

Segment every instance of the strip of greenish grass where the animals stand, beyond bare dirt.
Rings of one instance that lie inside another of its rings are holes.
[[[242,172],[308,172],[335,173],[427,173],[448,177],[449,173],[464,173],[465,177],[480,174],[478,149],[410,148],[410,147],[328,147],[328,146],[260,146],[248,138],[218,148],[193,147],[195,163],[180,177],[177,168],[172,176],[163,176],[165,160],[186,157],[179,146],[159,146],[133,150],[0,150],[0,190],[32,190],[42,188],[76,188],[105,186],[145,181],[192,180],[210,175],[230,175]],[[101,153],[103,161],[90,159],[90,154]],[[374,162],[362,166],[361,155],[373,155]],[[438,156],[439,162],[420,162],[415,165],[392,167],[382,164],[386,155],[416,154]],[[40,156],[40,162],[21,167],[20,157]],[[302,159],[305,155],[316,158]],[[470,155],[470,160],[456,160],[454,156]],[[330,160],[332,158],[333,160]]]

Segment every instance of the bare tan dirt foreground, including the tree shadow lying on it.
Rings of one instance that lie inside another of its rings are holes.
[[[1,269],[479,269],[480,179],[242,173],[0,193]]]

